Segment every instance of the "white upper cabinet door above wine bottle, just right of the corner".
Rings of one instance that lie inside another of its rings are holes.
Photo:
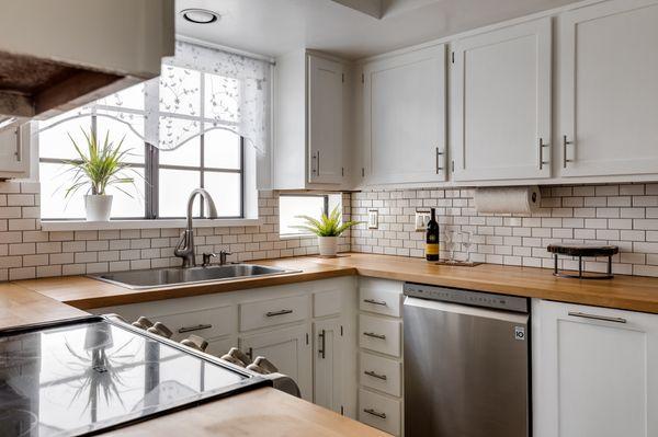
[[[445,181],[445,45],[363,71],[365,183]]]

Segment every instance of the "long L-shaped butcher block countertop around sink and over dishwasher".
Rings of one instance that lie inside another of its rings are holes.
[[[420,258],[359,253],[342,254],[337,258],[305,256],[256,263],[302,272],[150,290],[131,290],[82,276],[21,280],[13,284],[86,310],[359,274],[658,313],[658,278],[617,275],[614,279],[570,279],[555,277],[546,268],[494,264],[458,267],[435,265]]]

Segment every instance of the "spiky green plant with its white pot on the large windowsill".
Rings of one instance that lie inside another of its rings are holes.
[[[127,177],[125,172],[131,170],[125,162],[128,150],[122,150],[123,138],[115,146],[110,140],[110,133],[105,134],[105,139],[100,143],[93,133],[84,135],[86,145],[80,147],[69,134],[76,152],[76,160],[68,161],[73,172],[71,185],[66,189],[65,197],[70,197],[81,188],[87,188],[84,195],[84,210],[87,221],[107,221],[112,212],[112,195],[105,194],[111,185],[133,184],[134,179]],[[125,138],[125,137],[124,137]],[[131,196],[117,186],[117,189]],[[131,196],[132,197],[132,196]]]

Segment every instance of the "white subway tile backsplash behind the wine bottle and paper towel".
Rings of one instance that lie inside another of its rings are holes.
[[[472,260],[518,266],[553,267],[546,246],[553,242],[615,244],[617,274],[658,276],[658,184],[565,185],[542,187],[541,208],[530,216],[477,214],[473,189],[394,189],[352,194],[352,219],[365,221],[377,209],[379,227],[352,230],[351,250],[402,256],[424,256],[424,233],[416,232],[417,209],[436,208],[442,231],[474,234]],[[455,245],[455,257],[466,253]],[[560,268],[577,268],[561,258]],[[586,262],[586,269],[603,272],[605,260]]]

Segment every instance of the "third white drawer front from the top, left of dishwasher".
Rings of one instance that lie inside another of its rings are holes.
[[[394,359],[361,353],[359,378],[362,386],[394,396],[402,395],[402,365]]]

